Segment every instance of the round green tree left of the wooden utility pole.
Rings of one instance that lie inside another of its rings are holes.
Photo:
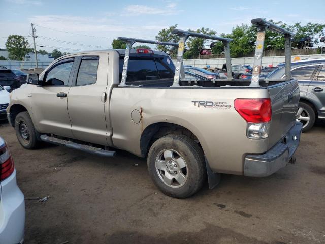
[[[28,41],[20,35],[10,35],[6,42],[6,48],[9,52],[9,59],[23,60],[28,52]]]

